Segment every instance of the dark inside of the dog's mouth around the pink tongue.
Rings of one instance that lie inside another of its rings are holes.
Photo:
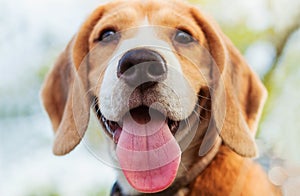
[[[149,107],[139,106],[137,108],[131,109],[125,116],[130,115],[132,119],[139,124],[147,124],[151,120],[149,111]],[[160,111],[154,111],[154,113],[163,116]],[[101,123],[105,128],[105,132],[109,135],[110,138],[112,138],[115,144],[118,144],[122,132],[123,121],[121,120],[119,122],[116,122],[108,120],[104,115],[101,114],[100,111],[98,112],[98,116],[100,117]],[[174,121],[166,117],[165,123],[167,123],[172,135],[175,136],[178,131],[180,121]]]

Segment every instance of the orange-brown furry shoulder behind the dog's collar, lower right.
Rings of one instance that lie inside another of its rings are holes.
[[[237,155],[226,146],[221,147],[215,159],[189,188],[191,196],[281,194],[257,163]]]

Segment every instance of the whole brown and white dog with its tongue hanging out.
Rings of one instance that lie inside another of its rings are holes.
[[[265,98],[218,26],[177,0],[100,6],[42,89],[56,155],[94,109],[121,168],[112,195],[280,194],[250,159]]]

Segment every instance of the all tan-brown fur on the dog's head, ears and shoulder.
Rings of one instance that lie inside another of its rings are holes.
[[[246,158],[257,154],[254,135],[266,98],[266,91],[258,77],[213,20],[196,8],[176,0],[143,1],[144,4],[140,2],[113,1],[95,10],[49,73],[42,89],[42,99],[56,135],[54,153],[64,155],[70,152],[83,137],[89,121],[92,96],[85,92],[91,86],[97,87],[94,88],[94,94],[99,92],[99,85],[103,80],[100,73],[117,47],[96,47],[94,40],[105,28],[113,26],[122,31],[138,27],[146,13],[153,25],[189,30],[209,50],[222,78],[214,86],[214,104],[202,100],[201,105],[212,109],[213,113],[202,111],[202,116],[214,119],[224,144],[211,164],[183,192],[189,195],[279,194],[259,165]],[[132,35],[124,35],[123,39],[130,36]],[[193,51],[197,50],[190,48],[191,55]],[[91,53],[88,55],[89,52]],[[198,55],[201,59],[201,55],[205,54]],[[195,93],[201,89],[207,95],[204,79],[198,74],[197,66],[179,55],[177,58],[181,61],[182,70]],[[98,66],[99,61],[102,67]],[[200,60],[197,64],[201,64]],[[216,74],[216,70],[212,74]],[[100,79],[95,81],[94,78],[99,75]],[[225,90],[221,88],[222,85]],[[225,116],[218,111],[224,103]],[[180,168],[178,177],[186,175],[186,170],[201,160],[197,153],[203,139],[202,132],[207,126],[207,122],[200,124],[193,142],[183,153],[182,163],[185,167]]]

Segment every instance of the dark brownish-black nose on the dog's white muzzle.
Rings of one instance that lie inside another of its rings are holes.
[[[163,57],[149,49],[134,49],[126,52],[118,64],[118,77],[133,87],[147,86],[166,79],[167,66]]]

